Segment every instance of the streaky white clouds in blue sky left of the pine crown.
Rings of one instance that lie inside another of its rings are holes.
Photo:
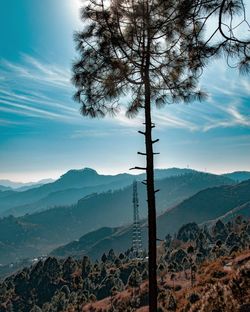
[[[0,110],[61,122],[79,120],[71,99],[70,72],[28,55],[23,55],[22,60],[22,64],[1,60]],[[11,115],[6,115],[6,122]]]

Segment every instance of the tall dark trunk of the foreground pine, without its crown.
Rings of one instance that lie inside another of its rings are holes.
[[[151,121],[151,91],[149,74],[145,75],[145,144],[146,144],[146,174],[148,200],[148,256],[149,256],[149,311],[157,311],[157,276],[156,276],[156,207],[154,188],[154,153]]]

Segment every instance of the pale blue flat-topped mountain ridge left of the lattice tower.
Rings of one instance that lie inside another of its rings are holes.
[[[61,193],[57,196],[57,200],[45,202],[39,202],[39,200],[46,198],[49,194],[55,194],[56,192],[72,189],[80,189],[78,198],[73,198],[71,201],[70,192],[66,192],[66,196],[63,200],[67,200],[66,204],[75,203],[81,196],[91,194],[97,191],[104,191],[106,184],[111,184],[110,189],[114,188],[116,183],[117,188],[125,186],[131,183],[133,177],[127,174],[119,174],[115,176],[105,176],[99,175],[95,170],[85,168],[83,170],[70,170],[56,180],[53,183],[48,183],[40,187],[35,187],[24,192],[15,192],[10,196],[5,197],[1,200],[1,211],[5,214],[25,214],[27,212],[32,212],[32,210],[47,208],[48,206],[53,206],[56,204],[62,204],[58,201]],[[113,183],[113,185],[112,185]],[[32,204],[33,205],[28,205]],[[26,206],[23,206],[26,205]],[[46,206],[47,205],[47,206]],[[18,208],[21,206],[20,208]],[[15,209],[13,209],[15,208]]]

